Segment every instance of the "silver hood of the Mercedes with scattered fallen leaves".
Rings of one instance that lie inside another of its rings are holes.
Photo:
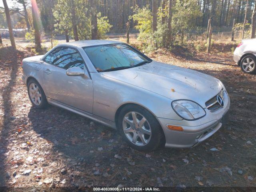
[[[205,108],[205,102],[222,89],[220,80],[178,66],[153,61],[149,64],[102,73],[140,88],[160,94],[171,100],[188,99]]]

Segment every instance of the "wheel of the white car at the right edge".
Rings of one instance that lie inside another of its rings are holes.
[[[256,74],[256,58],[254,55],[247,55],[242,58],[240,67],[243,72],[248,74]]]

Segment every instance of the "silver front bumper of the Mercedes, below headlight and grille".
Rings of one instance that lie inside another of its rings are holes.
[[[158,118],[166,139],[165,147],[191,148],[212,136],[227,121],[228,110],[230,108],[230,98],[228,96],[226,101],[228,102],[224,104],[223,108],[220,108],[215,112],[207,111],[206,116],[199,120],[188,122],[186,120]],[[207,122],[201,124],[203,120],[206,120]],[[194,126],[197,122],[199,125]],[[191,126],[188,123],[191,123]],[[182,126],[184,131],[170,130],[166,126],[168,124]],[[186,124],[186,126],[184,126],[184,124]]]

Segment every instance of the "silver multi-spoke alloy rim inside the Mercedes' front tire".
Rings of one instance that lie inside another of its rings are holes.
[[[123,118],[123,131],[128,140],[137,146],[150,142],[152,131],[148,120],[140,113],[128,112]]]

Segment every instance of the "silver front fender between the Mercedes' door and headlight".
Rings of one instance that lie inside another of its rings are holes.
[[[93,113],[97,116],[115,121],[118,108],[124,104],[138,104],[154,116],[182,120],[172,109],[169,98],[139,88],[125,82],[91,73],[94,84]]]

